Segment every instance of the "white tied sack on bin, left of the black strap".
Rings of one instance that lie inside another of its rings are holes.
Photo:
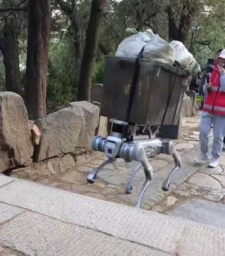
[[[133,31],[135,33],[136,30],[127,29],[128,33]],[[124,41],[119,44],[117,52],[115,56],[117,57],[125,57],[125,58],[136,58],[139,55],[141,49],[151,41],[154,33],[151,29],[148,29],[144,32],[139,32],[131,35],[130,37],[125,38]]]

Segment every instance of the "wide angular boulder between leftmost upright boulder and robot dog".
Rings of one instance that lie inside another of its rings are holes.
[[[68,107],[34,122],[41,131],[41,141],[35,147],[35,161],[73,152],[82,129],[82,112]]]

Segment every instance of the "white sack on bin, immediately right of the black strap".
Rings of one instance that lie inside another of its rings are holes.
[[[173,65],[175,62],[175,49],[161,37],[154,35],[152,40],[144,47],[143,57]]]

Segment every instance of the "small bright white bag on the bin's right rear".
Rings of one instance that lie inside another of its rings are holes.
[[[186,69],[193,63],[194,57],[180,41],[172,41],[170,45],[175,48],[175,61],[179,62],[181,69]]]

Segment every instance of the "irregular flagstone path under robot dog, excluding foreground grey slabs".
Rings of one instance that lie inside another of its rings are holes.
[[[193,164],[194,158],[199,153],[199,121],[200,115],[194,118],[184,118],[182,136],[180,140],[174,140],[177,150],[182,155],[183,166],[174,176],[169,193],[162,191],[161,186],[172,169],[172,157],[158,155],[154,159],[150,159],[155,170],[155,177],[148,187],[141,207],[224,227],[222,216],[225,213],[225,153],[223,152],[220,166],[216,169]],[[137,165],[136,162],[125,163],[118,159],[117,162],[101,170],[95,184],[86,182],[88,173],[105,159],[104,155],[98,154],[91,161],[82,165],[78,164],[76,168],[68,172],[41,179],[38,182],[101,200],[135,205],[140,187],[144,182],[143,171],[140,170],[135,179],[132,194],[125,194],[125,186],[132,169]]]

